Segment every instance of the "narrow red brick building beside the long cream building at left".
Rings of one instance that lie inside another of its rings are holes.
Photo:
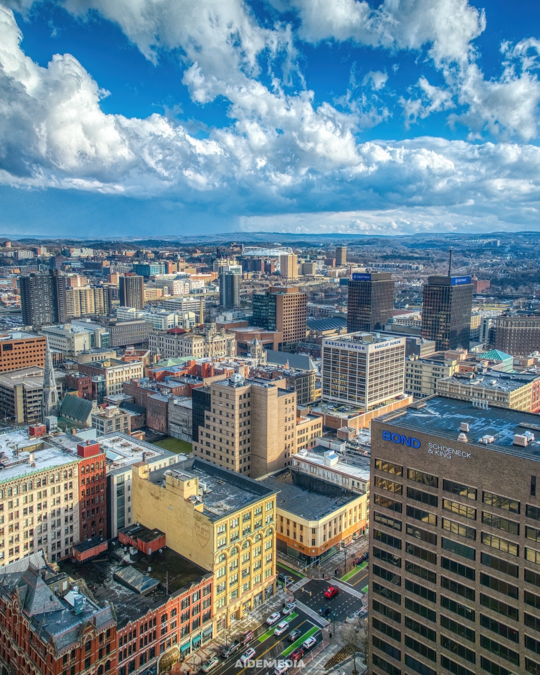
[[[80,539],[107,539],[107,498],[105,493],[105,452],[97,441],[77,445],[79,464]]]

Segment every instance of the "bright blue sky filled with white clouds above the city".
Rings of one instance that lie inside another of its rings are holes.
[[[539,55],[530,0],[0,0],[0,232],[540,229]]]

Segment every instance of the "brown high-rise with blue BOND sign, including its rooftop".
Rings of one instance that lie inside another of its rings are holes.
[[[436,396],[371,423],[373,674],[540,672],[537,418]]]

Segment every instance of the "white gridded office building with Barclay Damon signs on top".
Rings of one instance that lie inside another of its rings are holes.
[[[404,394],[405,338],[352,333],[323,340],[323,401],[372,410]]]

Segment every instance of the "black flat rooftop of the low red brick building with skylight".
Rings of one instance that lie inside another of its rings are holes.
[[[125,548],[115,540],[111,550],[88,562],[72,563],[65,560],[59,563],[61,572],[66,572],[74,580],[84,579],[99,605],[104,607],[107,602],[113,603],[118,628],[124,628],[130,621],[138,620],[146,612],[163,605],[167,597],[177,595],[199,583],[202,578],[212,576],[207,570],[169,548],[162,549],[161,553],[155,551],[151,556],[144,556],[139,551],[134,558],[124,552]],[[159,585],[150,593],[140,595],[114,578],[113,575],[130,568],[158,580]],[[150,571],[148,568],[151,568]]]

